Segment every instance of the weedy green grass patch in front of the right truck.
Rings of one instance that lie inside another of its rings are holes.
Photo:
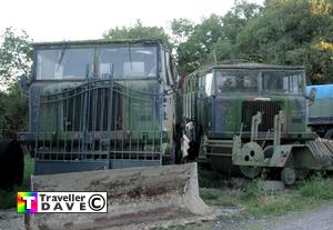
[[[200,177],[201,187],[211,187],[200,188],[200,197],[204,202],[223,208],[241,208],[242,211],[236,214],[240,218],[261,218],[309,210],[333,201],[333,179],[324,178],[320,173],[283,191],[265,191],[261,179],[253,180],[243,188],[229,188],[221,182],[211,182],[210,180],[215,179],[209,180],[208,172]]]

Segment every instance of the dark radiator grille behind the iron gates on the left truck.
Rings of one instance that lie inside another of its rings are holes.
[[[117,84],[112,90],[99,88],[84,92],[84,89],[79,87],[69,91],[68,99],[62,102],[63,130],[121,130],[123,98],[123,89]]]

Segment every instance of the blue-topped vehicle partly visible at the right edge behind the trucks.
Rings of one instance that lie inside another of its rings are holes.
[[[315,101],[309,107],[309,126],[322,138],[333,139],[333,84],[307,86],[316,90]]]

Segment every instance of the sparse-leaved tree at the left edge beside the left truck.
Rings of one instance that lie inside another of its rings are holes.
[[[7,28],[1,36],[0,46],[0,138],[16,138],[18,131],[26,129],[28,104],[22,97],[18,77],[31,70],[32,40],[21,31],[20,34]]]

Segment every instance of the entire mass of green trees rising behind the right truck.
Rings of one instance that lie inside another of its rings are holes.
[[[313,83],[333,82],[333,6],[330,0],[235,1],[223,17],[201,23],[173,20],[176,60],[186,73],[206,63],[245,59],[302,64]]]

